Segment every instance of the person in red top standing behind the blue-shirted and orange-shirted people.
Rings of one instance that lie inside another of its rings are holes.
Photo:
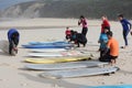
[[[108,30],[110,31],[110,23],[107,19],[107,15],[102,15],[102,24],[101,24],[101,33],[105,33],[105,28],[108,28]]]

